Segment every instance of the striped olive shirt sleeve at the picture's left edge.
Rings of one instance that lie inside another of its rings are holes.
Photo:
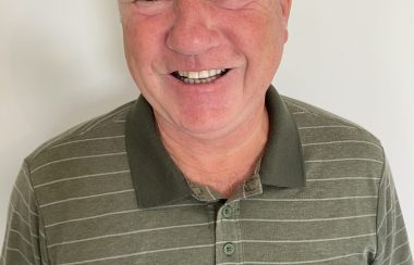
[[[24,163],[10,198],[1,265],[47,265],[45,229],[27,164]]]

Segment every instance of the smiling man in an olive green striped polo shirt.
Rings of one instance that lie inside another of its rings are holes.
[[[413,264],[379,141],[270,86],[290,0],[120,0],[134,102],[45,143],[1,264]]]

